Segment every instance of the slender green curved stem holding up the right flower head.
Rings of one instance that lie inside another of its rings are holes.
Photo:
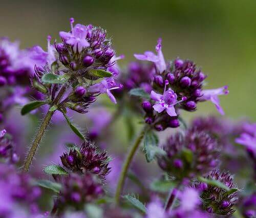
[[[133,160],[133,157],[144,137],[145,134],[145,129],[146,129],[146,125],[143,127],[143,129],[141,130],[141,133],[139,134],[138,138],[136,139],[134,145],[132,146],[129,154],[127,155],[123,167],[122,167],[122,171],[121,171],[121,175],[119,177],[119,181],[117,184],[117,188],[116,188],[116,194],[115,194],[115,203],[118,204],[119,203],[119,199],[120,199],[120,195],[122,193],[122,189],[123,189],[123,185],[124,185],[124,181],[127,175],[127,171],[131,165],[131,162]]]

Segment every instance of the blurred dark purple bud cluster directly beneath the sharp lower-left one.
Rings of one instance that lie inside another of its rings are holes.
[[[92,203],[103,194],[101,183],[91,173],[70,173],[62,178],[62,189],[54,202],[52,213],[61,214],[67,208],[83,210],[84,204]]]

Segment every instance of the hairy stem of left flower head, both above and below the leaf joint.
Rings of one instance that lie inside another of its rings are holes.
[[[56,98],[53,100],[53,104],[57,104],[59,102],[59,100],[61,99],[61,97],[63,96],[63,94],[66,92],[66,85],[64,84],[62,86],[62,88],[60,89],[60,91],[58,92]],[[54,114],[54,111],[48,111],[44,120],[42,121],[38,132],[36,133],[35,139],[33,141],[33,144],[31,145],[30,149],[29,149],[29,154],[25,159],[24,165],[23,165],[23,171],[24,172],[28,172],[29,171],[29,167],[32,163],[32,160],[35,156],[35,153],[39,147],[39,144],[42,140],[42,138],[45,135],[46,132],[46,128],[48,126],[48,124],[50,123],[52,116]]]

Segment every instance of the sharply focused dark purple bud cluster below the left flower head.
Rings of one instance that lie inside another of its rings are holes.
[[[101,180],[105,179],[111,169],[106,152],[99,152],[91,142],[83,142],[80,148],[71,148],[60,159],[69,171],[82,174],[91,172]]]

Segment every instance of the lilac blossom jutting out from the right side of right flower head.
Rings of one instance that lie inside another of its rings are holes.
[[[203,90],[201,92],[202,96],[199,97],[199,101],[208,101],[210,100],[212,103],[215,104],[218,112],[221,114],[221,115],[224,115],[224,111],[220,105],[220,99],[219,99],[219,95],[227,95],[228,94],[228,86],[225,85],[221,88],[218,88],[218,89],[213,89],[213,90]]]

